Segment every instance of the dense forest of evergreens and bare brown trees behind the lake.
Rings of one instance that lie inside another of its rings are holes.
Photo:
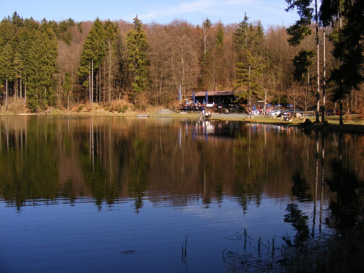
[[[192,25],[143,24],[138,16],[38,22],[14,12],[0,23],[0,110],[121,99],[170,107],[180,85],[182,97],[217,86],[241,90],[237,99],[254,94],[303,110],[363,108],[363,1],[286,2],[300,15],[288,28],[264,28],[247,14],[240,23]]]

